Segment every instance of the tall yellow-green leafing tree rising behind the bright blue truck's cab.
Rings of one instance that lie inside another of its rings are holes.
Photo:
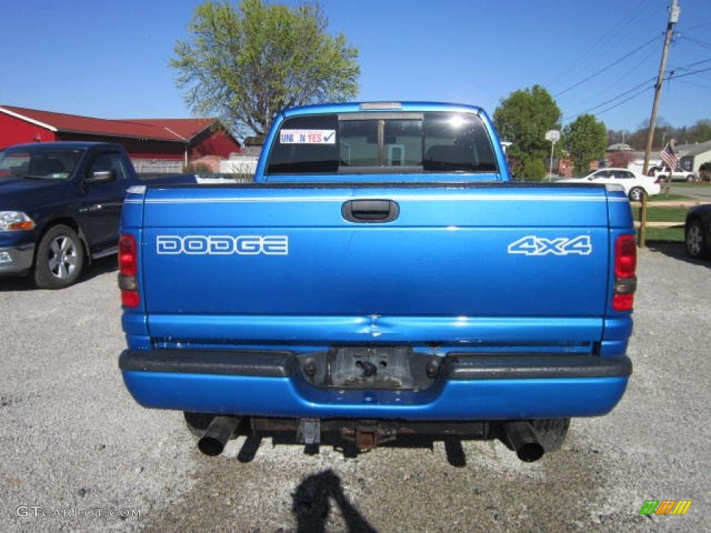
[[[358,94],[358,50],[327,25],[319,4],[205,1],[175,45],[176,85],[194,113],[215,114],[242,136],[264,135],[284,107]]]

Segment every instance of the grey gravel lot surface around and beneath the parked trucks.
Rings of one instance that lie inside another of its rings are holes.
[[[562,450],[531,464],[498,442],[448,461],[443,443],[345,458],[239,438],[207,458],[180,414],[123,387],[114,258],[63,291],[0,279],[0,531],[705,530],[711,263],[681,252],[641,252],[621,404],[574,420]],[[693,504],[643,517],[645,500]]]

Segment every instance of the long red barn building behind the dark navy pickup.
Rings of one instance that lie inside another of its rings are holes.
[[[218,119],[95,119],[0,106],[0,148],[47,141],[122,144],[141,171],[181,171],[183,165],[240,153],[242,147]]]

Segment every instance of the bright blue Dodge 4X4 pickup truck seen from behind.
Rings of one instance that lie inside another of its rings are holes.
[[[119,367],[204,453],[426,434],[535,461],[624,394],[621,188],[512,182],[481,109],[417,102],[287,109],[255,182],[124,205]]]

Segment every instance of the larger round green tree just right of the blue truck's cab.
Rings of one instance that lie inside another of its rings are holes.
[[[507,152],[515,176],[526,180],[543,178],[545,166],[533,161],[542,163],[550,157],[545,132],[560,129],[560,108],[550,93],[540,85],[511,93],[496,108],[493,122],[501,138],[513,143]]]

